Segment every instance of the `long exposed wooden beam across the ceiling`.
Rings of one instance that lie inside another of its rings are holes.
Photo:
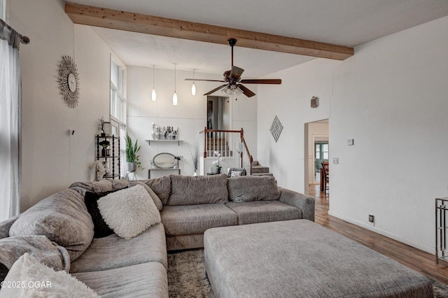
[[[240,47],[337,60],[351,57],[354,52],[353,48],[343,45],[318,43],[287,36],[129,13],[71,2],[65,3],[65,12],[75,24],[183,38],[192,41],[227,45],[229,38],[236,38]]]

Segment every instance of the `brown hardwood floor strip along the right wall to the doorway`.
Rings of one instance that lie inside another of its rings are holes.
[[[316,198],[315,222],[342,234],[354,241],[376,250],[383,255],[405,264],[430,278],[448,285],[448,263],[435,264],[435,256],[382,236],[363,227],[358,227],[339,218],[328,215],[330,195],[320,191],[319,185],[309,185],[309,195]]]

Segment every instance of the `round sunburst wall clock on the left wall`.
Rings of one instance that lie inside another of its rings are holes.
[[[63,56],[59,64],[59,86],[65,103],[70,108],[76,108],[79,99],[79,74],[74,60],[69,56]]]

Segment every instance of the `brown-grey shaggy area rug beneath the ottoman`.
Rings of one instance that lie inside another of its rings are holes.
[[[435,298],[448,298],[448,286],[433,282]],[[204,249],[168,254],[168,291],[171,298],[214,298],[204,266]]]

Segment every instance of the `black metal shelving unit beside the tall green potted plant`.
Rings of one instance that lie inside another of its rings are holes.
[[[107,150],[103,150],[103,147],[99,145],[102,141],[109,141],[111,144],[109,155]],[[100,136],[97,134],[97,160],[102,159],[111,171],[109,175],[104,175],[104,179],[120,178],[120,138],[118,136]],[[109,164],[108,164],[109,160]],[[118,167],[118,173],[116,173],[116,164]]]

